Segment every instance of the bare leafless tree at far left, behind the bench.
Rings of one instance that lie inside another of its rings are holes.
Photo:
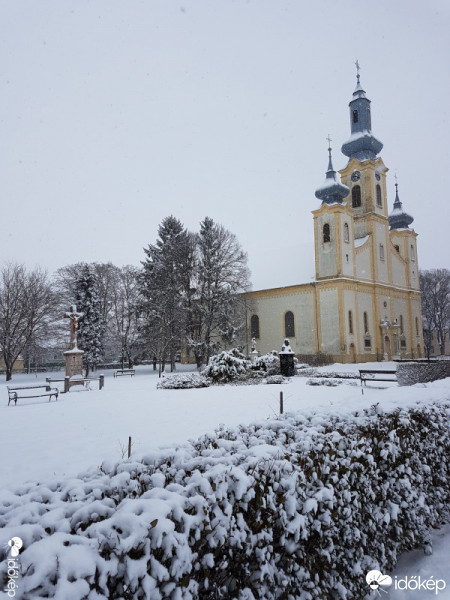
[[[6,380],[31,343],[45,340],[55,314],[55,295],[47,273],[8,264],[0,271],[0,347]]]

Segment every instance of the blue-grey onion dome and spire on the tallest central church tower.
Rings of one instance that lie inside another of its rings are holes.
[[[342,145],[342,153],[345,156],[356,158],[359,161],[375,160],[377,154],[383,148],[383,144],[372,135],[372,123],[370,116],[370,100],[366,97],[359,80],[359,64],[356,61],[357,83],[353,92],[350,107],[350,139]]]

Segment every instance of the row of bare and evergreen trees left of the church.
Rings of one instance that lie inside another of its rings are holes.
[[[154,360],[173,370],[180,353],[198,366],[219,347],[246,339],[242,292],[250,287],[247,255],[236,236],[206,217],[189,232],[173,216],[144,249],[140,268],[76,263],[53,276],[8,264],[0,271],[0,349],[6,379],[19,357],[67,348],[63,315],[83,313],[78,346],[86,375],[105,359]],[[62,359],[62,355],[61,355]]]

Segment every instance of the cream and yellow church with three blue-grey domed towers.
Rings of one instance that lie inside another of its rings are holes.
[[[417,234],[395,184],[388,210],[383,144],[372,134],[370,100],[360,84],[349,103],[347,165],[333,169],[331,147],[320,205],[312,212],[315,281],[249,292],[249,346],[336,362],[418,358],[423,353]]]

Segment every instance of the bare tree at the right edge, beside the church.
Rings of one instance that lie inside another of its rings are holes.
[[[450,329],[450,271],[431,269],[420,272],[422,324],[427,355],[436,331],[440,353],[445,353],[445,336]]]

